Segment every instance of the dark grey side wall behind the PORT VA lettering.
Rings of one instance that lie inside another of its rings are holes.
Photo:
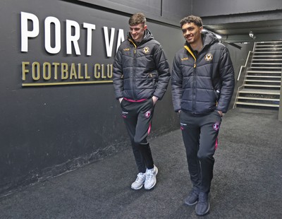
[[[28,41],[28,52],[20,51],[21,11],[39,18],[40,32]],[[47,16],[54,16],[61,23],[58,54],[49,54],[44,49]],[[111,64],[114,60],[114,52],[112,57],[106,57],[103,27],[116,28],[113,48],[116,51],[117,30],[127,32],[129,16],[81,1],[1,1],[0,194],[129,147],[111,83],[23,88],[21,66],[22,61],[80,63],[91,66],[92,73],[94,64]],[[81,55],[66,54],[67,19],[80,25]],[[86,30],[82,23],[96,25],[92,56],[86,55]],[[175,52],[183,46],[180,28],[154,20],[147,24],[171,63]],[[168,88],[164,100],[157,104],[152,135],[177,129],[177,120]]]

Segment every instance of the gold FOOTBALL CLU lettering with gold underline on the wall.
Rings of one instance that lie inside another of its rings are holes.
[[[112,83],[113,64],[22,61],[23,86]]]

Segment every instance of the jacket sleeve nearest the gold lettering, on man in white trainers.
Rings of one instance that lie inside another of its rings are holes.
[[[123,97],[123,64],[122,55],[118,50],[113,64],[113,83],[116,99]]]

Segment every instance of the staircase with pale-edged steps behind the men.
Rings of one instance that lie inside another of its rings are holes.
[[[282,41],[256,42],[234,107],[278,109],[282,73]]]

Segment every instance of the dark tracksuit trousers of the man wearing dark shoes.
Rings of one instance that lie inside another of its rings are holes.
[[[208,193],[214,170],[214,153],[221,124],[217,110],[209,114],[180,111],[180,129],[193,187]]]

